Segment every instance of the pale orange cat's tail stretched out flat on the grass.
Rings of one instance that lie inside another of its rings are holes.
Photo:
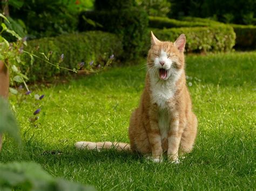
[[[114,148],[117,151],[129,151],[132,152],[131,146],[127,143],[118,143],[118,142],[77,142],[75,146],[80,150],[97,150],[102,149],[111,149]]]

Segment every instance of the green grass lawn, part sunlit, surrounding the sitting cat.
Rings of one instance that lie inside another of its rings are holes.
[[[73,147],[80,140],[129,142],[129,118],[146,74],[140,69],[145,60],[140,63],[35,90],[45,94],[36,127],[28,117],[39,105],[18,104],[11,96],[24,148],[19,151],[5,137],[0,161],[32,160],[53,176],[98,190],[255,190],[256,52],[187,56],[199,132],[193,152],[181,164]],[[62,153],[45,152],[53,150]]]

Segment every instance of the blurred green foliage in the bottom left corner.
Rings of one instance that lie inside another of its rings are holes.
[[[0,190],[33,190],[33,191],[91,191],[90,186],[53,178],[35,162],[0,163]]]

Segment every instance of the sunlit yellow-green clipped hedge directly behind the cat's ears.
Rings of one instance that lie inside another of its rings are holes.
[[[235,33],[231,26],[180,27],[152,29],[159,40],[175,41],[180,34],[186,35],[187,52],[231,51],[235,44]],[[150,35],[148,35],[150,37]],[[150,38],[147,39],[147,49]]]

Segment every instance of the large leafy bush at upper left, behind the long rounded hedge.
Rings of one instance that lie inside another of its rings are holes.
[[[92,0],[15,0],[10,2],[10,16],[21,19],[29,39],[53,37],[77,31],[78,14],[90,9]]]

